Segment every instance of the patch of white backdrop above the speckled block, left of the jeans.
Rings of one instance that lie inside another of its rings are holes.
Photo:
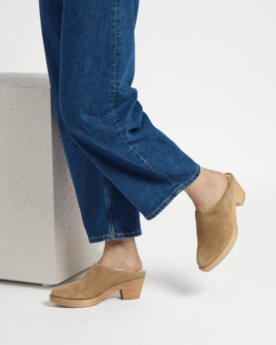
[[[38,0],[0,0],[0,72],[47,73]]]

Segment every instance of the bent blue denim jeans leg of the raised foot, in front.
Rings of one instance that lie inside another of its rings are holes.
[[[53,96],[64,125],[91,162],[153,219],[200,167],[152,125],[131,87],[138,1],[63,0],[62,6],[59,95]],[[58,49],[51,30],[44,30],[45,44]]]

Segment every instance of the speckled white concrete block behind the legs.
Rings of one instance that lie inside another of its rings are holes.
[[[0,73],[0,279],[57,284],[104,242],[85,232],[48,74]]]

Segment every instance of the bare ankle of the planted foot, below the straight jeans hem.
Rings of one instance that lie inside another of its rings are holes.
[[[134,237],[105,242],[104,252],[98,264],[127,271],[140,271],[142,261],[138,255]]]

